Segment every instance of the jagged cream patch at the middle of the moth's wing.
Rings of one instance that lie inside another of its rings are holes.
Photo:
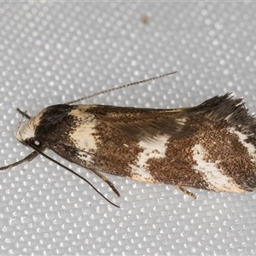
[[[143,152],[137,156],[137,163],[135,165],[130,164],[131,178],[145,182],[154,182],[154,177],[148,172],[148,160],[152,158],[164,158],[166,157],[167,148],[166,136],[154,137],[154,140],[140,141],[138,146],[143,148]]]

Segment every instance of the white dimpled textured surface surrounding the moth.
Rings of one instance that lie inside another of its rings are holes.
[[[0,166],[31,152],[20,115],[178,71],[85,103],[176,108],[233,91],[256,112],[256,3],[0,3]],[[61,160],[52,152],[47,152]],[[253,255],[256,192],[79,178],[38,157],[0,173],[1,255]]]

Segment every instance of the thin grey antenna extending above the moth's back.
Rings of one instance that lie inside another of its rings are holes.
[[[164,77],[166,77],[168,75],[171,75],[171,74],[174,74],[174,73],[177,73],[177,71],[171,72],[171,73],[164,73],[164,74],[161,74],[160,76],[157,76],[157,77],[154,77],[154,78],[151,78],[151,79],[144,79],[144,80],[140,80],[140,81],[137,81],[137,82],[134,82],[134,83],[131,83],[131,84],[123,84],[123,85],[120,85],[118,87],[114,87],[114,88],[107,89],[107,90],[102,90],[100,92],[96,92],[96,93],[91,94],[89,96],[84,96],[82,98],[79,98],[78,100],[75,100],[75,101],[72,101],[72,102],[67,102],[66,104],[70,105],[70,104],[73,104],[73,103],[76,103],[76,102],[82,102],[84,100],[90,99],[90,98],[95,97],[95,96],[99,96],[99,95],[107,93],[107,92],[111,92],[113,90],[119,90],[119,89],[129,87],[129,86],[132,86],[132,85],[143,84],[145,82],[149,82],[149,81],[152,81],[152,80],[155,80],[155,79],[161,79],[161,78],[164,78]]]

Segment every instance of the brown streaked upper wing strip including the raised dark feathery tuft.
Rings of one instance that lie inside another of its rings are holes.
[[[193,132],[189,120],[198,116],[228,125],[255,124],[248,115],[241,99],[233,99],[230,94],[214,96],[194,108],[147,109],[98,106],[93,108],[95,115],[109,126],[137,139],[154,139],[166,134],[170,137],[183,137]],[[252,126],[249,126],[252,127]],[[253,126],[253,131],[255,127]],[[246,131],[249,133],[250,131]]]

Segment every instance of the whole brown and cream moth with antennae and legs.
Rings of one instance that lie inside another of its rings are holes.
[[[228,93],[192,108],[174,109],[73,105],[92,96],[49,106],[32,118],[18,109],[22,119],[28,120],[20,120],[15,137],[33,151],[0,171],[41,154],[96,189],[84,177],[44,154],[48,148],[94,172],[118,196],[118,190],[102,172],[172,184],[193,197],[183,187],[238,193],[256,188],[256,119],[241,99]]]

